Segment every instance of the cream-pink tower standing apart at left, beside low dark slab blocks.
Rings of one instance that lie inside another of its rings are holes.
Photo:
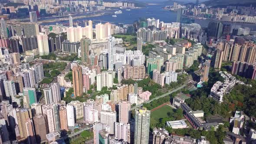
[[[36,36],[39,56],[49,55],[49,45],[48,36],[46,34],[40,33]]]

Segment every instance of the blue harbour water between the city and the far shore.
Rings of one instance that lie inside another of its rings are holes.
[[[176,13],[169,11],[169,10],[163,10],[161,9],[165,5],[163,4],[156,4],[156,5],[147,5],[146,8],[140,8],[140,9],[131,9],[131,10],[124,10],[120,9],[122,11],[121,14],[116,14],[117,17],[113,17],[112,14],[110,15],[104,15],[104,16],[95,16],[95,17],[89,17],[89,18],[81,18],[81,19],[75,19],[73,22],[79,21],[83,22],[86,20],[93,20],[95,23],[102,23],[105,22],[112,22],[115,24],[118,23],[124,23],[124,24],[133,24],[135,20],[139,20],[140,18],[152,18],[159,19],[160,21],[164,21],[165,23],[171,23],[176,22]],[[113,11],[115,12],[115,10]],[[207,27],[208,23],[211,20],[195,20],[195,23],[200,24],[202,27]],[[51,23],[43,23],[43,25],[55,25],[56,23],[69,23],[68,20],[66,21],[57,21],[57,22],[51,22]],[[230,23],[230,22],[223,22],[223,23]],[[235,24],[236,26],[241,27],[249,27],[252,29],[252,31],[256,31],[256,24],[247,24],[247,23],[230,23]],[[84,26],[84,25],[82,25]]]

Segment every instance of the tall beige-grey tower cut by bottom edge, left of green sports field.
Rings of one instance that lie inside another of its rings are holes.
[[[150,111],[147,108],[135,109],[134,144],[148,144]]]

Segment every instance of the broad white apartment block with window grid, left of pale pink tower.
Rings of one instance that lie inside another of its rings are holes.
[[[109,125],[109,134],[115,134],[115,122],[116,122],[116,112],[115,111],[101,111],[100,112],[100,122],[102,124]]]

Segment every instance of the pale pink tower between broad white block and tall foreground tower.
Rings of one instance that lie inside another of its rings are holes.
[[[128,101],[119,102],[119,122],[127,124],[130,118],[131,103]]]

